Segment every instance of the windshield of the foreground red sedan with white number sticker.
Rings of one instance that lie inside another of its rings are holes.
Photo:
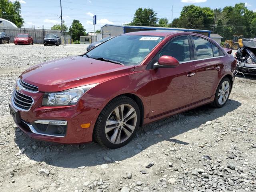
[[[105,58],[124,65],[139,65],[164,37],[120,35],[87,52],[91,58]]]

